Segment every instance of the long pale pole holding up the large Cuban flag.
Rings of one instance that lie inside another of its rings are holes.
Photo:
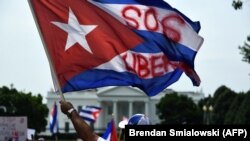
[[[39,32],[39,35],[40,35],[40,38],[41,38],[41,41],[42,41],[43,48],[44,48],[44,50],[46,52],[46,56],[48,58],[48,62],[49,62],[50,70],[51,70],[51,75],[52,75],[52,79],[53,79],[53,84],[54,84],[54,89],[55,89],[56,92],[57,91],[59,92],[58,94],[59,94],[61,100],[66,101],[64,96],[63,96],[63,93],[62,93],[58,78],[56,77],[55,68],[54,68],[53,62],[51,61],[50,55],[48,53],[48,49],[46,48],[46,44],[45,44],[45,42],[43,40],[41,30],[40,30],[40,28],[38,28],[39,25],[37,23],[37,18],[35,16],[34,9],[33,9],[32,4],[31,4],[31,0],[28,0],[28,3],[29,3],[29,7],[30,7],[30,10],[31,10],[32,16],[34,18],[34,21],[36,23],[36,28],[37,28],[37,30]]]

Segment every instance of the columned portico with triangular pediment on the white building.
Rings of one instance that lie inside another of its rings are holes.
[[[103,113],[100,115],[100,119],[102,119],[101,123],[108,123],[112,116],[115,123],[118,124],[123,117],[131,117],[136,113],[148,115],[148,96],[146,96],[142,91],[134,88],[116,88],[102,90],[97,94],[99,97],[98,102],[103,108]]]

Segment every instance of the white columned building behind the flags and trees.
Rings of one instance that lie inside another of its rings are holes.
[[[156,115],[156,104],[167,93],[174,92],[171,89],[166,89],[160,94],[148,97],[140,89],[134,87],[103,87],[95,90],[85,90],[79,92],[72,92],[64,94],[66,101],[73,104],[76,110],[80,110],[85,105],[100,106],[102,111],[97,121],[94,124],[94,129],[98,133],[102,133],[107,126],[107,123],[114,116],[115,124],[122,120],[122,118],[130,117],[136,113],[146,114],[152,124],[159,123],[160,120]],[[177,92],[178,94],[184,94],[191,97],[194,102],[204,98],[202,92]],[[59,104],[60,96],[54,92],[48,92],[47,106],[51,110],[52,105],[56,101],[58,104],[58,120],[60,133],[75,132],[71,121],[60,110]],[[48,117],[49,121],[49,117]],[[48,123],[49,124],[49,123]],[[47,126],[49,128],[49,125]],[[46,131],[45,134],[50,134]]]

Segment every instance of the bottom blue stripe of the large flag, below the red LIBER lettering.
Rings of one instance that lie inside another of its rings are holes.
[[[63,92],[70,92],[73,90],[77,91],[86,88],[96,88],[116,84],[117,86],[136,86],[148,93],[148,96],[154,96],[170,84],[177,81],[181,74],[182,71],[180,69],[176,69],[173,72],[167,73],[161,77],[154,77],[152,79],[141,79],[133,73],[121,73],[112,70],[92,69],[81,73],[80,75],[77,75],[76,77],[68,81],[67,84],[64,86]],[[124,80],[124,78],[126,78],[126,80]],[[82,81],[78,81],[78,79],[82,79]]]

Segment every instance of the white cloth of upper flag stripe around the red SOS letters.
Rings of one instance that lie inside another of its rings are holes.
[[[91,3],[93,3],[94,5],[98,6],[99,8],[103,9],[104,11],[106,11],[107,13],[109,13],[110,15],[112,15],[114,18],[116,18],[117,20],[119,20],[121,23],[123,23],[124,25],[127,25],[127,22],[130,23],[130,21],[126,21],[124,18],[122,18],[122,9],[124,9],[124,7],[126,6],[131,6],[131,5],[126,5],[126,4],[100,4],[98,2],[94,2],[94,1],[90,1]],[[144,6],[144,5],[133,5],[134,7],[137,7],[138,9],[140,9],[141,11],[141,16],[138,17],[137,14],[133,13],[133,11],[131,13],[128,12],[129,17],[133,17],[133,19],[136,19],[136,21],[139,23],[139,28],[137,30],[147,30],[147,28],[145,27],[144,24],[144,18],[143,17],[146,13],[145,11],[147,11],[147,9],[149,8],[148,6]],[[153,7],[153,6],[152,6]],[[164,17],[166,17],[166,15],[171,15],[171,14],[177,14],[175,11],[172,10],[166,10],[166,9],[162,9],[162,8],[158,8],[158,7],[154,7],[154,9],[157,11],[157,13],[159,14],[157,16],[157,22],[162,21],[164,19]],[[164,15],[163,15],[164,14]],[[152,18],[152,17],[151,17]],[[155,20],[149,20],[150,22],[155,21]],[[171,24],[171,26],[176,27],[180,30],[180,35],[181,35],[181,40],[179,41],[180,44],[185,45],[186,47],[192,49],[193,51],[198,51],[203,43],[203,38],[198,35],[195,31],[193,31],[192,27],[189,25],[188,22],[185,22],[186,24],[183,26],[179,26],[178,24]],[[133,25],[134,23],[130,23],[131,25]],[[149,23],[149,24],[154,24],[154,23]],[[159,24],[161,25],[161,24]],[[158,33],[163,33],[163,28],[161,26],[159,26],[158,30],[156,30],[155,32]],[[192,40],[190,40],[192,39]]]

